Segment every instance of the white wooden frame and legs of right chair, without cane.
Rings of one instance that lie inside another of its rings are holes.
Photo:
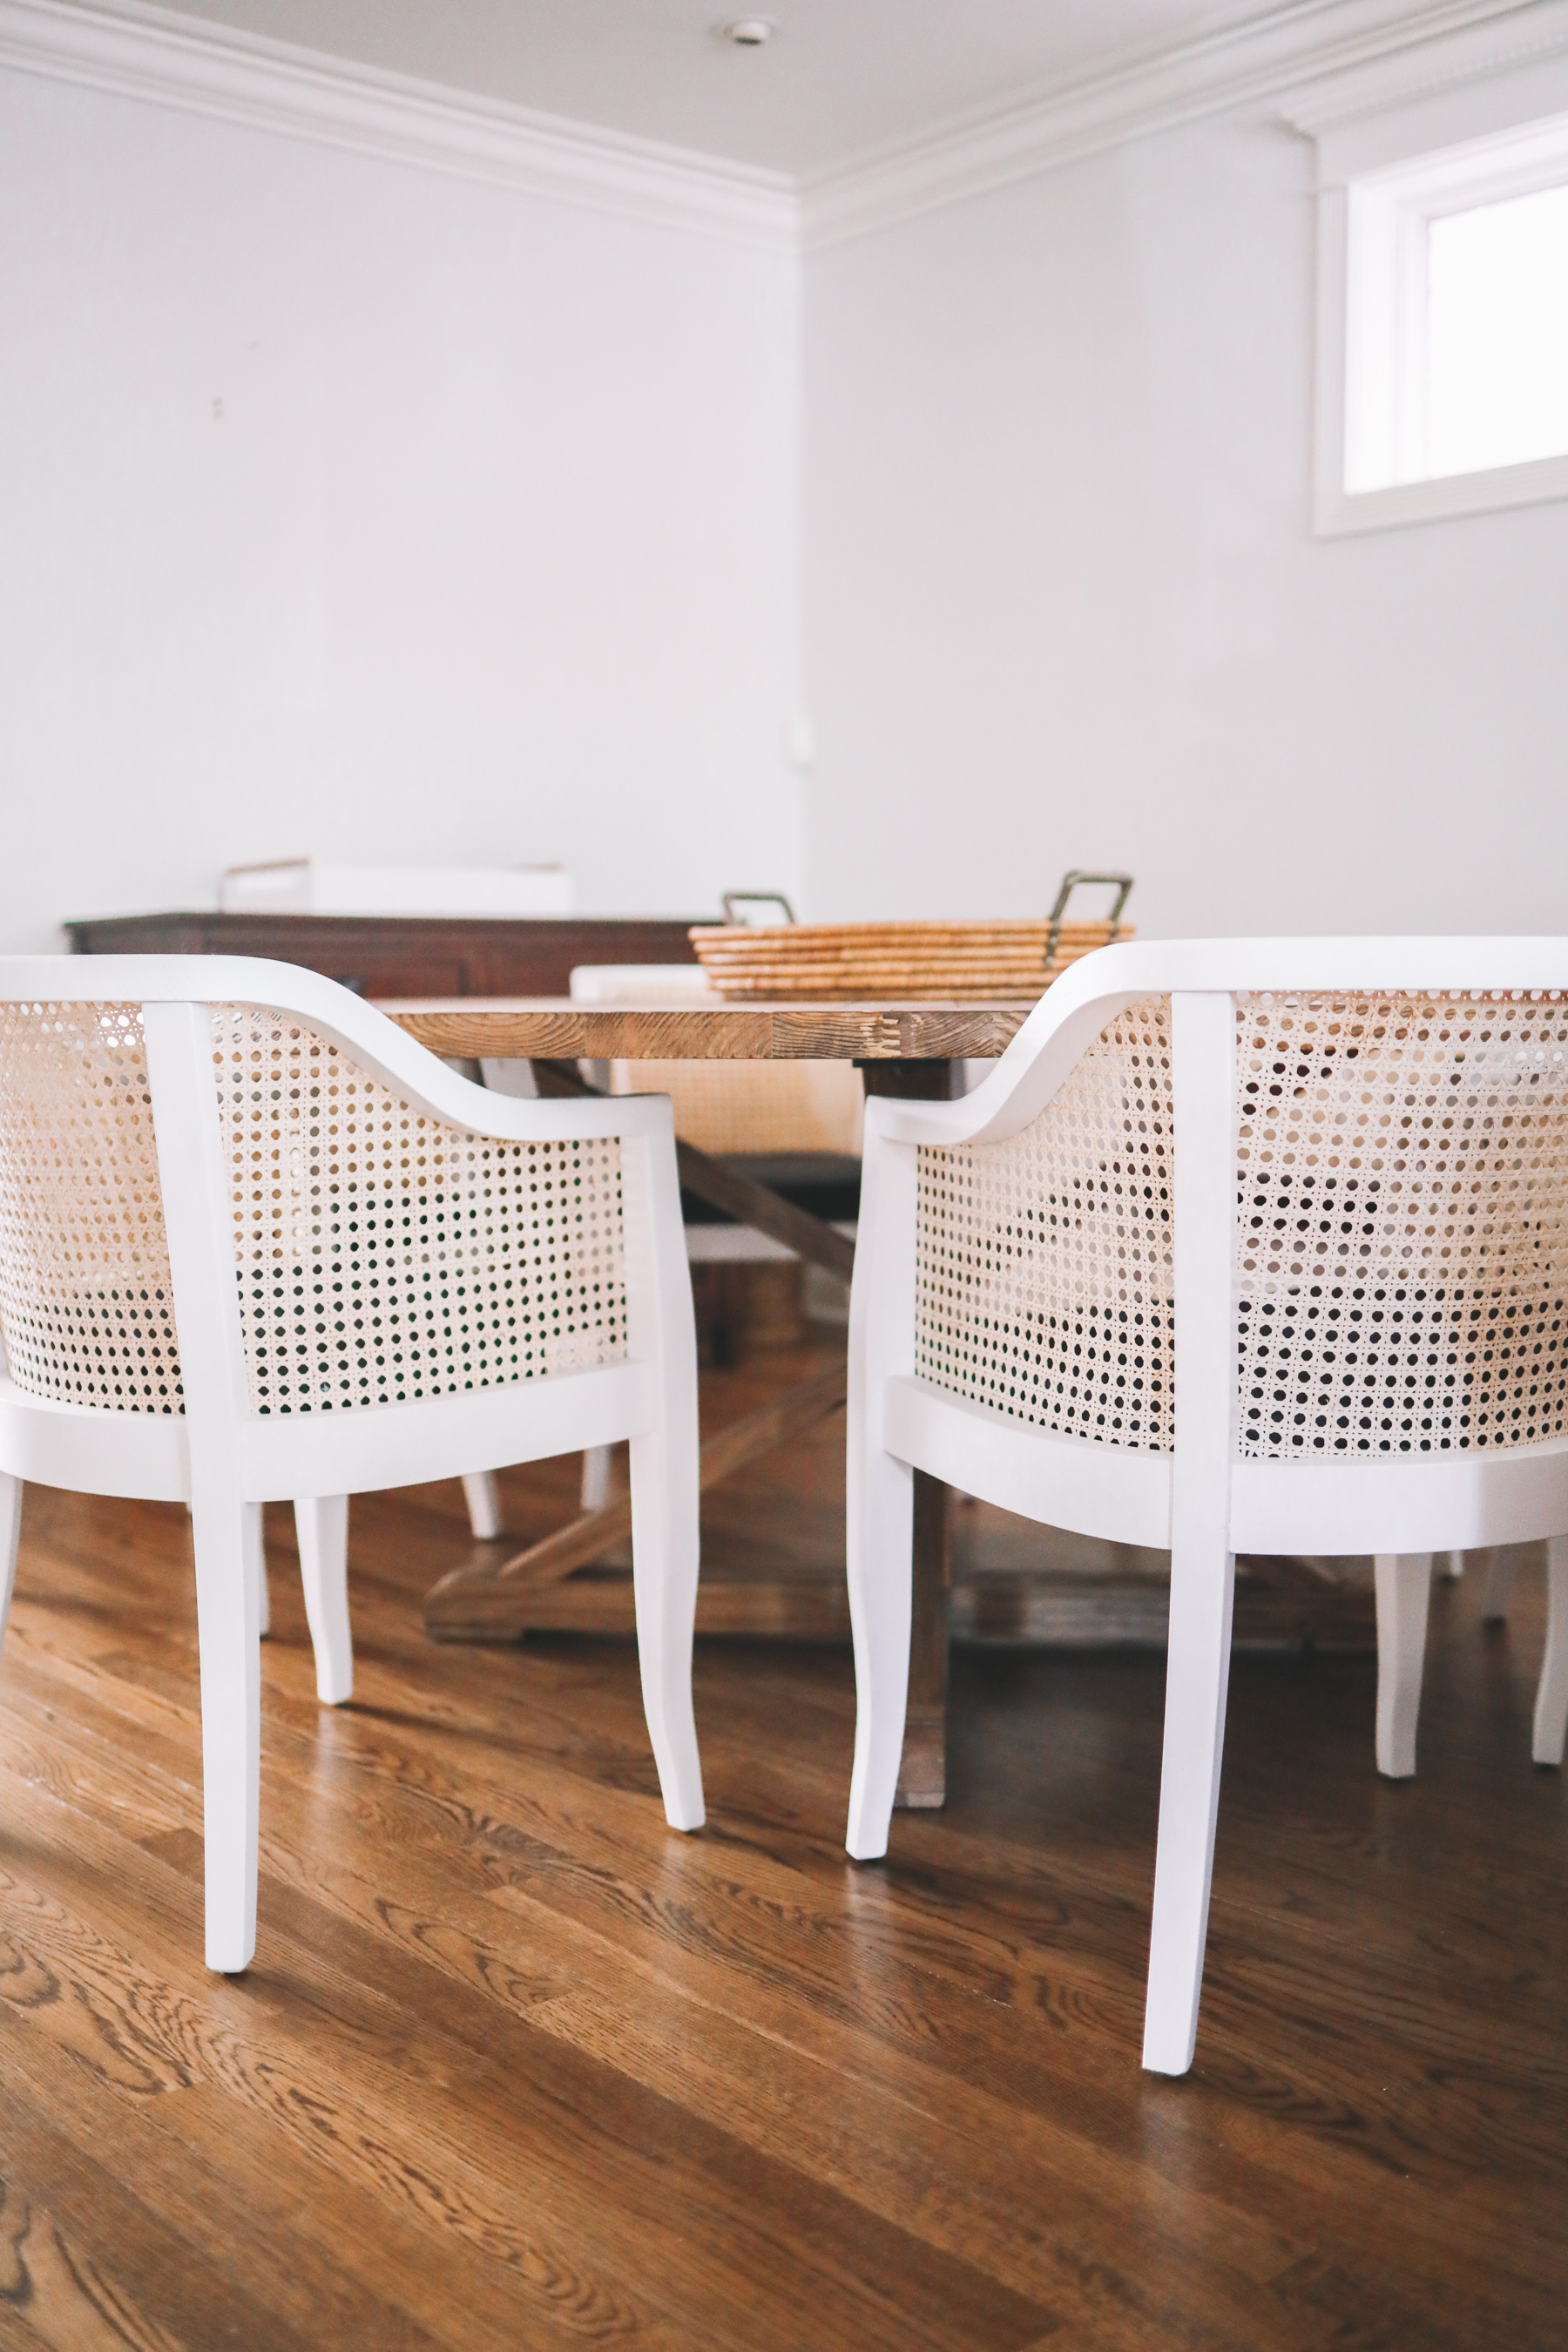
[[[1552,1538],[1535,1759],[1568,1719],[1568,1439],[1443,1454],[1239,1451],[1239,995],[1544,995],[1561,938],[1178,941],[1105,948],[1039,1002],[957,1103],[867,1103],[849,1327],[849,1602],[856,1762],[849,1851],[886,1851],[910,1672],[912,1470],[1084,1536],[1171,1552],[1171,1649],[1143,2063],[1192,2063],[1208,1926],[1237,1552],[1375,1555],[1378,1762],[1415,1766],[1432,1555]],[[1053,1435],[914,1374],[917,1152],[1030,1127],[1107,1023],[1171,1000],[1173,1451]]]

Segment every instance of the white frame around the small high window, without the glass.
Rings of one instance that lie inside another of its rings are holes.
[[[1345,103],[1331,87],[1288,113],[1319,155],[1316,534],[1568,499],[1568,454],[1420,473],[1427,228],[1568,181],[1568,54],[1406,103]]]

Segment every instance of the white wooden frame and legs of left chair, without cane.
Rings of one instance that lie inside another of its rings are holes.
[[[183,1414],[115,1411],[19,1388],[0,1359],[0,1635],[21,1486],[186,1501],[202,1670],[207,1964],[256,1947],[256,1825],[266,1581],[261,1505],[299,1519],[317,1691],[353,1686],[346,1498],[630,1439],[637,1649],[665,1813],[703,1823],[691,1715],[698,1423],[691,1279],[670,1103],[517,1101],[451,1073],[374,1007],[292,964],[242,957],[5,957],[5,1004],[141,1007]],[[235,1282],[235,1207],[219,1131],[212,1007],[299,1016],[414,1112],[512,1143],[621,1143],[625,1362],[348,1411],[252,1411]]]

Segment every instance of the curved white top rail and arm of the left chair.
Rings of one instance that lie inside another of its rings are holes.
[[[0,957],[0,1000],[45,1004],[256,1004],[299,1014],[331,1044],[343,1047],[371,1077],[418,1110],[475,1136],[508,1143],[562,1136],[639,1136],[670,1129],[663,1096],[621,1094],[614,1101],[529,1101],[491,1094],[383,1011],[336,981],[299,964],[254,955],[7,955]]]

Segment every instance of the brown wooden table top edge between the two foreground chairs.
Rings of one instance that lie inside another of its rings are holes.
[[[433,1054],[496,1061],[990,1061],[1032,1004],[574,1004],[390,1000]]]

